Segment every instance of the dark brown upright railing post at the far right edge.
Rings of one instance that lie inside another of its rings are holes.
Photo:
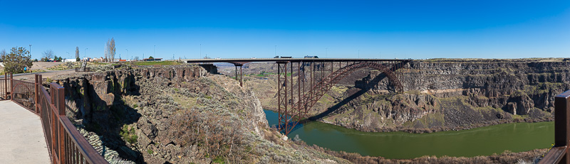
[[[554,98],[554,146],[570,148],[570,91]],[[560,163],[570,163],[570,153],[566,151]]]

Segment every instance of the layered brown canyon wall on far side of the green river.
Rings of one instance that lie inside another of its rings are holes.
[[[550,58],[414,60],[396,72],[403,93],[393,93],[385,75],[365,68],[336,84],[309,115],[361,131],[429,132],[546,121],[553,118],[556,94],[570,89],[569,66],[567,60]],[[270,68],[264,71],[274,71]],[[276,88],[264,87],[275,82],[266,81],[248,82],[266,95],[260,98],[264,108],[275,109]]]

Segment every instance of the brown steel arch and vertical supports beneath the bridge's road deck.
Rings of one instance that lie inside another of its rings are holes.
[[[321,79],[320,82],[316,82],[316,78],[314,78],[315,72],[315,63],[309,62],[311,65],[311,89],[308,92],[303,91],[303,96],[301,97],[301,87],[304,90],[304,80],[305,77],[305,69],[304,65],[305,62],[296,62],[297,67],[297,98],[294,94],[294,84],[293,84],[293,64],[294,62],[289,62],[291,69],[291,82],[287,82],[287,65],[288,62],[277,62],[278,69],[277,69],[277,76],[278,76],[278,113],[279,113],[279,129],[284,130],[285,134],[289,134],[296,124],[301,121],[302,118],[306,117],[307,112],[311,109],[314,104],[321,99],[323,95],[328,92],[336,83],[342,80],[346,75],[350,75],[352,72],[356,70],[360,70],[364,67],[371,67],[375,70],[380,70],[381,72],[385,73],[388,77],[390,84],[393,84],[395,87],[395,92],[403,92],[403,85],[398,80],[398,77],[394,74],[393,70],[398,70],[405,65],[404,62],[388,62],[388,63],[379,63],[379,62],[353,62],[353,64],[349,65],[348,62],[346,63],[345,67],[341,66],[339,62],[339,68],[336,71],[333,71],[333,63],[331,62],[331,74],[324,77],[324,72],[326,70],[325,64],[328,62],[321,62],[318,65],[317,69],[321,70]],[[303,65],[301,72],[301,65]],[[391,67],[388,68],[386,65],[390,65]],[[303,82],[301,84],[301,78]],[[291,86],[288,88],[288,84]],[[288,90],[290,89],[290,93],[288,94]],[[290,104],[290,105],[288,105]]]

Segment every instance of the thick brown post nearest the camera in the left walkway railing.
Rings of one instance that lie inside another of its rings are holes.
[[[53,87],[55,87],[56,85],[52,85]],[[58,123],[58,148],[59,150],[59,162],[60,163],[65,163],[66,161],[66,141],[65,141],[65,134],[66,134],[66,130],[63,129],[63,124],[61,124],[61,121],[59,120],[59,116],[66,116],[66,100],[65,100],[65,92],[63,90],[63,87],[57,85],[58,87],[54,89],[56,96],[56,109],[57,109],[57,114],[56,114],[56,119],[53,120],[55,122]]]

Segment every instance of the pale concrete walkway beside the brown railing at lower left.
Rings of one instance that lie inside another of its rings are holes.
[[[0,163],[51,163],[40,117],[0,101]]]

